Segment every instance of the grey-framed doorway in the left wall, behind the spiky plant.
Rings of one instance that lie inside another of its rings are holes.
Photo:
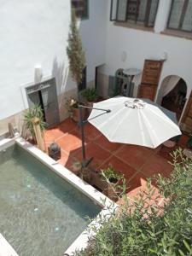
[[[44,114],[44,122],[48,127],[58,124],[59,108],[57,102],[55,79],[49,79],[26,88],[29,108],[39,105]]]

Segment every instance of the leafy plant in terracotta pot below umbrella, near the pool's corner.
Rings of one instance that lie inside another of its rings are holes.
[[[108,168],[102,170],[102,177],[104,177],[108,183],[108,197],[115,201],[119,194],[119,181],[123,179],[123,176],[116,172],[113,166],[109,165]]]

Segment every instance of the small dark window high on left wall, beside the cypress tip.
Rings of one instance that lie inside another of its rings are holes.
[[[88,18],[88,0],[72,0],[72,6],[78,18]]]

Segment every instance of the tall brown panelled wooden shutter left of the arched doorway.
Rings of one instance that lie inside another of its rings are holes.
[[[143,67],[142,83],[139,86],[137,97],[148,98],[154,101],[163,61],[145,60]]]

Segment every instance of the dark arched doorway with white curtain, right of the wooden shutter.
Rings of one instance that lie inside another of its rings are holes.
[[[175,84],[173,84],[173,81],[175,81]],[[168,90],[166,88],[167,93],[162,97],[161,106],[176,113],[177,120],[179,120],[186,102],[187,84],[179,77],[177,77],[177,79],[166,78],[163,83],[166,83],[166,86],[169,86],[169,88]]]

